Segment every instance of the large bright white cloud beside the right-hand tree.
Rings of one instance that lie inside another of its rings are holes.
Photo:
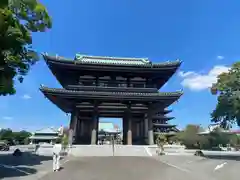
[[[194,71],[180,71],[178,75],[183,78],[181,85],[193,91],[208,89],[213,83],[217,82],[217,76],[223,72],[228,72],[226,66],[214,66],[207,74],[201,74]]]

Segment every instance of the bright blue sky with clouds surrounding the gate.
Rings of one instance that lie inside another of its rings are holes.
[[[171,108],[170,123],[210,122],[216,104],[208,87],[240,58],[239,0],[41,0],[53,28],[33,34],[39,52],[148,57],[153,62],[183,61],[161,91],[184,90]],[[67,2],[67,3],[66,3]],[[69,117],[39,91],[60,87],[43,61],[16,83],[17,94],[0,97],[0,127],[36,130],[68,125]],[[117,120],[113,120],[118,122]]]

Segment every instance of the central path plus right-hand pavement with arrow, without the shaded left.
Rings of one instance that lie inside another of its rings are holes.
[[[217,166],[220,168],[215,170]],[[239,167],[234,160],[194,156],[75,157],[60,172],[40,180],[237,180]]]

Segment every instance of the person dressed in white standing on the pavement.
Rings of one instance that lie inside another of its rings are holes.
[[[53,145],[53,171],[59,171],[60,169],[60,153],[62,151],[62,144],[57,141]]]

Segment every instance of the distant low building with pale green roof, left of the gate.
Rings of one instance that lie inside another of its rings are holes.
[[[45,128],[41,130],[37,130],[29,137],[31,144],[39,144],[39,143],[50,143],[52,144],[56,139],[59,138],[58,130],[53,128]]]

